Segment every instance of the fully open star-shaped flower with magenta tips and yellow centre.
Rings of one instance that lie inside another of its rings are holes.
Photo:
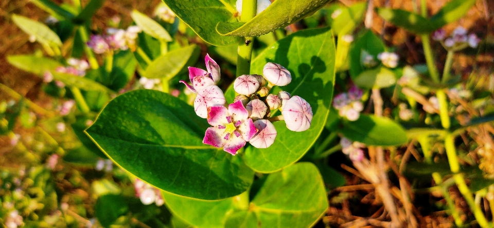
[[[237,154],[246,142],[257,133],[254,122],[241,101],[232,103],[226,109],[224,106],[208,108],[207,122],[213,126],[206,130],[204,144]]]

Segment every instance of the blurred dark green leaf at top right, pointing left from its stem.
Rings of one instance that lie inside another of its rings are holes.
[[[431,21],[413,12],[390,8],[377,8],[376,11],[385,21],[415,34],[429,34],[436,30]]]

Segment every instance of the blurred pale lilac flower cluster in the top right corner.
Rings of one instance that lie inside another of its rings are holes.
[[[480,39],[475,33],[467,34],[467,30],[462,27],[456,27],[451,33],[451,37],[446,38],[446,31],[438,29],[432,34],[432,39],[440,41],[447,49],[463,49],[467,46],[479,46]]]

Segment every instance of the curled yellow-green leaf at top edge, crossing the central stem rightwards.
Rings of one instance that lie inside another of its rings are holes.
[[[249,22],[219,22],[216,31],[223,36],[258,37],[302,20],[325,6],[329,1],[276,0]]]

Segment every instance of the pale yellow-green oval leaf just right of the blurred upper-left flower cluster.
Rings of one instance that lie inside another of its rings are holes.
[[[137,10],[133,10],[130,14],[135,24],[143,29],[149,36],[154,37],[160,41],[171,42],[170,34],[159,23],[151,19],[144,13]]]

